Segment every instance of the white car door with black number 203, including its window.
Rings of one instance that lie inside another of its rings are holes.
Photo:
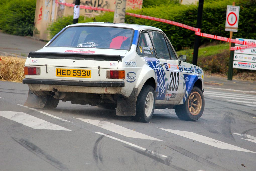
[[[157,59],[165,72],[167,88],[164,100],[180,101],[184,94],[183,74],[179,71],[179,60],[165,35],[149,31]],[[161,84],[160,82],[158,84]],[[165,103],[165,102],[162,102]]]

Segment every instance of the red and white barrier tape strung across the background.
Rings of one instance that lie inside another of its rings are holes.
[[[62,3],[62,2],[58,2],[58,0],[56,0],[55,3],[60,4],[60,5],[70,6],[70,7],[74,6],[74,4],[72,4],[72,3]],[[80,5],[80,8],[91,9],[91,10],[99,10],[99,11],[109,11],[109,12],[114,12],[115,11],[113,9],[92,7],[92,6],[87,6],[87,5]],[[130,15],[130,16],[133,16],[133,17],[137,17],[137,18],[149,19],[149,20],[153,20],[153,21],[163,22],[163,23],[172,24],[172,25],[175,25],[175,26],[178,26],[178,27],[186,28],[186,29],[189,29],[191,31],[194,31],[195,35],[197,35],[197,36],[211,38],[211,39],[224,41],[224,42],[231,42],[231,43],[239,43],[241,45],[248,45],[248,46],[242,46],[242,47],[241,46],[230,47],[231,51],[234,51],[234,50],[237,50],[237,49],[246,49],[246,48],[256,47],[256,44],[254,44],[254,43],[250,43],[250,42],[246,42],[246,41],[239,41],[239,40],[236,40],[236,39],[230,39],[230,38],[227,38],[227,37],[221,37],[221,36],[216,36],[216,35],[212,35],[212,34],[201,33],[200,28],[192,27],[192,26],[189,26],[189,25],[186,25],[186,24],[175,22],[175,21],[171,21],[171,20],[167,20],[167,19],[163,19],[163,18],[141,15],[141,14],[134,14],[134,13],[126,13],[126,14]]]

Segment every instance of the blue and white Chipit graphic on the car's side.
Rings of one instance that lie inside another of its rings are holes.
[[[148,64],[148,66],[154,69],[155,71],[155,80],[157,82],[156,92],[158,92],[156,100],[165,100],[167,92],[166,89],[168,86],[168,80],[165,75],[165,69],[162,68],[158,59],[156,58],[144,57],[144,60]]]

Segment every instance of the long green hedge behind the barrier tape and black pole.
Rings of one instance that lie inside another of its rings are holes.
[[[231,5],[232,1],[233,0],[208,0],[204,3],[201,26],[202,33],[229,37],[229,32],[225,31],[225,19],[227,5]],[[254,21],[256,17],[256,0],[239,0],[236,2],[236,5],[240,6],[239,26],[238,33],[233,33],[233,35],[241,38],[256,39],[256,32],[254,31],[256,29]],[[195,27],[197,7],[198,5],[181,5],[175,2],[170,2],[168,6],[160,5],[142,8],[140,10],[128,10],[127,12],[165,18]],[[112,12],[106,12],[99,16],[95,16],[94,18],[80,20],[79,22],[113,22],[113,16],[114,14]],[[49,30],[52,36],[66,26],[64,23],[67,22],[67,19],[69,18],[63,17],[51,25]],[[166,23],[135,18],[128,15],[126,15],[125,22],[161,28],[166,33],[176,50],[193,47],[194,45],[195,34],[193,31]],[[63,23],[63,25],[60,23]],[[70,24],[72,24],[72,20]],[[212,39],[202,38],[201,44],[210,41],[212,41]]]

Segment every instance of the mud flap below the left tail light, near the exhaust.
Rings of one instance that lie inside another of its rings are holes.
[[[28,98],[24,103],[24,106],[42,109],[45,107],[46,101],[47,101],[47,97],[37,96],[29,88]]]

